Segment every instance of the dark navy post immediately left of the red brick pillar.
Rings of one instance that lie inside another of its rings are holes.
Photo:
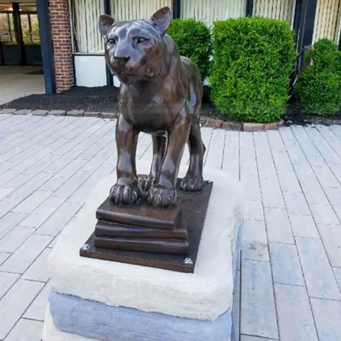
[[[37,14],[45,92],[47,94],[53,94],[55,93],[55,64],[53,62],[53,46],[50,28],[50,14],[48,13],[48,1],[37,0]]]

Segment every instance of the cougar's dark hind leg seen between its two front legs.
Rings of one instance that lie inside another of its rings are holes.
[[[152,139],[153,162],[151,163],[151,172],[147,177],[141,178],[141,186],[144,190],[148,190],[155,183],[166,151],[166,137],[152,135]]]

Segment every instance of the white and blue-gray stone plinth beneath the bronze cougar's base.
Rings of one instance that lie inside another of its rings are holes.
[[[80,257],[115,176],[97,185],[50,255],[43,341],[229,340],[242,194],[222,171],[204,176],[214,184],[194,274]]]

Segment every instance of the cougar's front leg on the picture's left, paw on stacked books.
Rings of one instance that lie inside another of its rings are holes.
[[[141,197],[135,161],[138,136],[138,131],[120,115],[116,125],[117,183],[112,186],[109,195],[119,205],[134,204]]]

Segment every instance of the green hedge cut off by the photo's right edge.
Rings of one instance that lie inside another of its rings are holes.
[[[341,109],[341,53],[328,39],[320,39],[305,53],[305,69],[295,92],[303,112],[320,116]]]

